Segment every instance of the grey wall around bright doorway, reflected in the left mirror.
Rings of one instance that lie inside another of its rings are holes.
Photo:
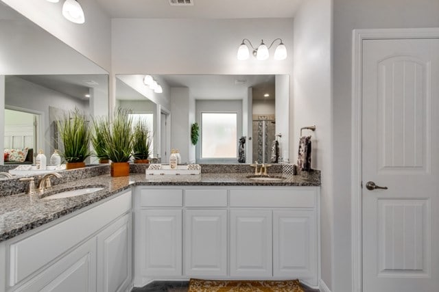
[[[77,98],[72,98],[14,76],[6,77],[5,81],[5,107],[8,106],[38,111],[43,114],[44,117],[41,119],[44,123],[43,137],[40,145],[43,146],[46,157],[50,157],[53,150],[50,148],[52,138],[49,106],[66,111],[76,107],[81,111],[88,112],[88,101],[80,101]]]

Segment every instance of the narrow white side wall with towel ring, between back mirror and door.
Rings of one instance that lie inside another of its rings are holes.
[[[333,265],[333,149],[331,96],[331,0],[304,1],[294,18],[294,75],[289,153],[296,161],[300,128],[316,124],[312,135],[311,167],[322,171],[321,260],[322,279],[331,288]],[[304,133],[305,134],[305,133]],[[338,292],[337,289],[333,291]]]

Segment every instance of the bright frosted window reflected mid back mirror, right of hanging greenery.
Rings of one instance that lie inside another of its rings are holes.
[[[237,158],[237,114],[201,114],[201,157]]]

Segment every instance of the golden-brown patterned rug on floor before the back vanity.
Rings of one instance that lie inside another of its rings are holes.
[[[299,280],[189,280],[188,292],[304,292]]]

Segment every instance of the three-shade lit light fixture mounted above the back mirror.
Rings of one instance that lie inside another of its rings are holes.
[[[250,56],[250,50],[248,49],[248,46],[246,44],[247,41],[248,44],[250,44],[250,47],[253,49],[252,54],[254,57],[256,57],[259,60],[268,59],[268,57],[270,56],[268,50],[271,49],[271,47],[273,46],[274,42],[276,42],[276,40],[281,41],[281,43],[278,44],[278,46],[276,47],[276,51],[274,51],[274,59],[277,60],[286,59],[287,47],[285,47],[285,44],[283,44],[281,38],[276,38],[275,40],[273,40],[269,47],[267,47],[267,45],[263,42],[263,40],[261,40],[261,44],[259,44],[259,47],[257,48],[253,47],[252,42],[250,42],[248,38],[244,38],[244,40],[242,40],[241,45],[239,46],[237,58],[239,60],[245,60],[248,59],[248,57]]]

